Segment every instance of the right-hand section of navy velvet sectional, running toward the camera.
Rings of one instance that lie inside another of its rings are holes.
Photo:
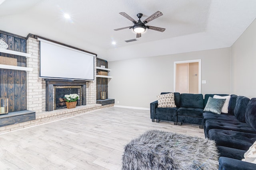
[[[216,142],[219,170],[256,170],[256,164],[242,161],[256,141],[256,98],[238,96],[234,115],[210,115],[203,113],[204,134]]]

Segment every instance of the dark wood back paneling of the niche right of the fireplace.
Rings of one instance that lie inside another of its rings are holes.
[[[101,65],[105,66],[105,68],[108,68],[108,61],[97,58],[96,66],[100,67]],[[106,71],[106,70],[97,69],[97,72],[98,71]],[[100,92],[106,92],[106,99],[108,99],[108,78],[97,77],[96,84],[97,84],[96,100],[100,100]]]

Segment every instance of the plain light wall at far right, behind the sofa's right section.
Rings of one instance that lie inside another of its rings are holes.
[[[256,20],[231,47],[231,92],[256,97]]]

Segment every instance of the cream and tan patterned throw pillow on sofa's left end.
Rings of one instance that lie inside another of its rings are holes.
[[[158,107],[176,107],[174,93],[161,94],[157,96]]]

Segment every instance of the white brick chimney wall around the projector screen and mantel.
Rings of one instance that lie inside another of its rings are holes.
[[[39,78],[39,66],[40,66],[40,48],[39,43],[35,35],[28,35],[27,39],[27,53],[31,54],[31,58],[27,59],[27,67],[32,67],[33,71],[27,72],[27,110],[36,111],[41,113],[44,111],[51,111],[54,109],[53,98],[49,98],[49,94],[54,93],[54,89],[51,92],[48,86],[53,88],[56,84],[52,82],[58,82],[58,80],[50,81]],[[50,62],[50,61],[49,61]],[[59,80],[65,82],[60,84],[63,86],[82,86],[83,96],[82,105],[96,104],[96,57],[94,57],[94,80],[91,81],[71,81]],[[57,83],[58,84],[58,83]],[[52,105],[50,105],[52,103]]]

